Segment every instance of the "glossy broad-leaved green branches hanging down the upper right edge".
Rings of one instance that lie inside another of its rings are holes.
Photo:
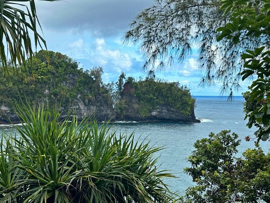
[[[242,80],[255,80],[249,86],[244,111],[248,127],[256,126],[256,137],[266,140],[270,134],[270,1],[227,0],[220,7],[231,18],[217,29],[217,41],[231,41],[236,46],[242,41],[256,42],[254,48],[242,50]],[[254,102],[256,104],[254,104]]]

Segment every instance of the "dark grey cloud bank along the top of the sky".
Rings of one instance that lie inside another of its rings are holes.
[[[36,2],[38,16],[46,29],[91,32],[99,37],[122,35],[136,15],[152,4],[151,0]]]

